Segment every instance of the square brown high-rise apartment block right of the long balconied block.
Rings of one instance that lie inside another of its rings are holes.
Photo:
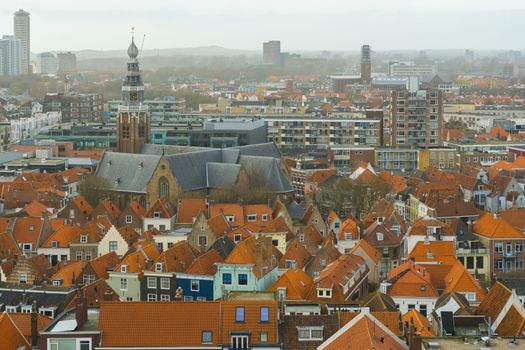
[[[443,145],[443,97],[417,87],[391,92],[392,146]]]

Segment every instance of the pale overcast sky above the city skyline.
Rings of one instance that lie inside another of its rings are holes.
[[[0,0],[0,34],[31,13],[31,51],[219,45],[283,51],[521,49],[525,0]]]

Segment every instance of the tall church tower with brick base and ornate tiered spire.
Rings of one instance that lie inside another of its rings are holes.
[[[122,84],[122,104],[117,114],[117,151],[123,153],[140,153],[142,145],[150,142],[151,117],[144,104],[138,54],[132,37],[128,48],[128,72]]]

